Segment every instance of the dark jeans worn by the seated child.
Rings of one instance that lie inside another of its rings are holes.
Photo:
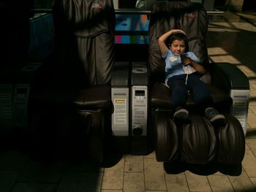
[[[198,110],[205,110],[207,107],[213,106],[211,93],[205,82],[200,80],[197,73],[176,75],[170,77],[167,85],[170,87],[172,97],[171,102],[173,108],[185,107],[187,103],[188,91],[191,91],[195,104]]]

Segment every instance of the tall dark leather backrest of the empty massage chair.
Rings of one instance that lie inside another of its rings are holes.
[[[56,77],[65,86],[110,83],[114,62],[112,0],[56,0],[53,4]]]

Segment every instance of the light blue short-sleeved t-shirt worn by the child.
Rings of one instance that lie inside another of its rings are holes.
[[[183,55],[186,55],[187,57],[191,58],[193,61],[200,63],[199,58],[197,58],[197,56],[192,52],[183,53]],[[170,77],[180,75],[180,74],[185,74],[181,64],[180,55],[176,56],[171,52],[171,50],[167,50],[166,55],[162,55],[162,58],[165,58],[165,82],[167,82],[167,80]]]

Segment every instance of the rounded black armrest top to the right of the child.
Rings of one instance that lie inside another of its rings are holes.
[[[224,91],[249,89],[249,80],[238,67],[230,63],[213,63],[210,69],[211,84]]]

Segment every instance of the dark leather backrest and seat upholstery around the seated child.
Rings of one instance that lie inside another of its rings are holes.
[[[206,33],[208,28],[208,18],[205,9],[201,4],[189,2],[169,2],[155,4],[152,10],[150,20],[150,45],[149,45],[149,69],[151,71],[151,80],[153,87],[151,89],[152,107],[171,107],[170,91],[165,85],[165,61],[162,59],[157,38],[164,34],[170,28],[181,28],[187,34],[189,40],[189,50],[194,52],[200,59],[200,64],[210,71],[211,65],[208,61],[208,51],[206,47]],[[226,80],[227,81],[227,80]],[[217,86],[209,82],[208,87],[211,90],[211,96],[218,110],[229,109],[232,99],[229,96],[230,88]],[[162,93],[166,93],[162,94]],[[168,95],[168,96],[167,96]],[[188,98],[188,107],[195,105],[191,96]],[[225,110],[227,112],[227,110]]]

